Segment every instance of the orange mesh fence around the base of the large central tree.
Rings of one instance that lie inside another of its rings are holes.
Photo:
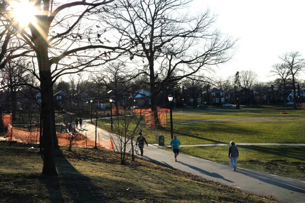
[[[167,111],[166,110],[158,110],[158,119],[159,124],[161,127],[166,128],[167,127]],[[156,128],[156,122],[155,122],[155,114],[151,110],[145,110],[144,111],[144,122],[145,127],[147,128]]]

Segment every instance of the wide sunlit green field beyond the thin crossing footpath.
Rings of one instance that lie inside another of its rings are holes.
[[[194,108],[195,109],[195,108]],[[224,110],[223,110],[224,109]],[[173,112],[174,134],[183,145],[238,142],[305,143],[305,109],[241,109],[226,107],[222,110],[201,112]],[[170,117],[167,128],[142,127],[143,135],[155,143],[156,133],[170,141]],[[103,122],[103,127],[110,129]],[[142,124],[143,126],[143,124]],[[134,126],[131,125],[131,130]]]

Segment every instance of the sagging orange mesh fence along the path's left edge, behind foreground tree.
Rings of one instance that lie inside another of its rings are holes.
[[[71,133],[59,133],[56,132],[58,138],[59,146],[69,146],[70,140],[72,139],[72,146],[74,147],[87,147],[93,148],[95,147],[95,142],[86,138],[85,135],[76,132],[74,135]],[[15,128],[11,125],[8,125],[7,128],[7,137],[9,137],[7,142],[24,142],[24,143],[32,143],[39,144],[39,129],[32,129],[30,132],[26,128]],[[99,139],[96,144],[98,149],[108,149],[114,151],[113,143],[111,139]]]

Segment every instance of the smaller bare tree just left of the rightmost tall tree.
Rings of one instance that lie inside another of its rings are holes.
[[[276,85],[282,89],[283,93],[286,94],[291,82],[290,68],[285,65],[285,63],[278,63],[272,66],[270,71],[272,76],[278,75],[280,80],[275,80]],[[286,106],[286,96],[284,96],[284,106]]]

